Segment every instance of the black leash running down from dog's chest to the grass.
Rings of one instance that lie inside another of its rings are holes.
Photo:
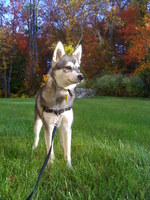
[[[35,186],[34,186],[34,189],[33,189],[33,191],[31,192],[31,194],[28,196],[27,200],[30,200],[30,199],[32,198],[33,193],[35,192],[36,187],[37,187],[37,185],[38,185],[38,183],[39,183],[39,180],[40,180],[40,178],[41,178],[41,176],[42,176],[42,174],[43,174],[43,171],[44,171],[44,169],[45,169],[45,167],[46,167],[46,165],[47,165],[47,162],[48,162],[48,160],[49,160],[49,157],[50,157],[51,151],[52,151],[52,144],[53,144],[54,136],[55,136],[55,133],[56,133],[56,128],[57,128],[57,124],[55,124],[54,129],[53,129],[53,132],[52,132],[52,141],[51,141],[51,146],[50,146],[49,152],[48,152],[48,154],[47,154],[47,156],[46,156],[46,158],[45,158],[45,161],[44,161],[44,163],[43,163],[43,166],[41,167],[41,170],[40,170],[40,172],[39,172],[39,176],[38,176],[38,179],[37,179],[36,184],[35,184]]]

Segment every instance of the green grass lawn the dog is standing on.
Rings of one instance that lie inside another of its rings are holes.
[[[34,140],[34,99],[0,99],[0,199],[23,200],[46,156]],[[56,135],[55,162],[33,199],[150,199],[150,99],[96,97],[74,106],[69,170]]]

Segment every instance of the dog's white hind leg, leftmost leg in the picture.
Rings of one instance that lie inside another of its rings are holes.
[[[33,144],[33,149],[35,149],[39,143],[39,137],[40,137],[40,130],[42,128],[42,120],[40,119],[39,116],[36,116],[35,122],[34,122],[34,144]]]

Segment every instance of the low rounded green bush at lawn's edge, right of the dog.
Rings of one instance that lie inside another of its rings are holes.
[[[98,77],[93,81],[92,89],[100,95],[141,97],[145,94],[144,82],[140,77],[122,74]]]

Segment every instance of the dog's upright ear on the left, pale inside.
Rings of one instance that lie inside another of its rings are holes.
[[[64,46],[59,41],[57,43],[57,46],[56,46],[54,54],[53,54],[52,67],[55,66],[55,64],[63,57],[64,54],[65,54]]]

